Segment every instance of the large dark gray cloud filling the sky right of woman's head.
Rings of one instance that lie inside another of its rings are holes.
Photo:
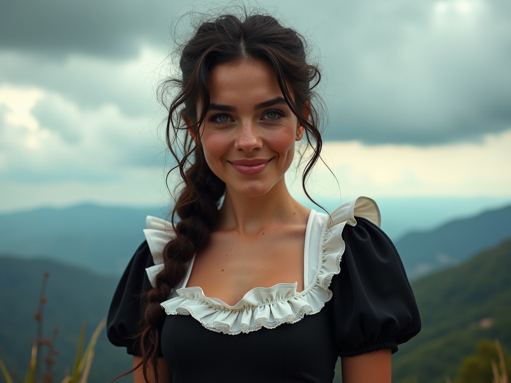
[[[345,56],[326,67],[327,138],[429,145],[511,129],[509,4],[399,3],[358,2],[324,43]]]

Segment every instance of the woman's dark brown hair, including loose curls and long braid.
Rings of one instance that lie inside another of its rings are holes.
[[[267,15],[245,14],[243,20],[223,15],[202,23],[182,47],[179,63],[182,79],[166,80],[159,88],[162,102],[169,87],[179,89],[169,107],[166,137],[177,161],[170,172],[179,171],[183,188],[172,211],[172,222],[175,222],[175,214],[179,217],[174,224],[176,236],[165,247],[165,267],[156,277],[156,287],[146,295],[145,328],[140,338],[144,376],[147,378],[148,368],[152,367],[156,382],[160,329],[165,320],[160,303],[168,299],[172,288],[184,277],[187,262],[207,246],[210,232],[217,223],[219,201],[225,192],[225,184],[205,162],[200,135],[197,134],[197,142],[191,139],[184,118],[189,119],[192,129],[198,129],[210,103],[208,75],[211,69],[221,63],[245,59],[265,60],[273,67],[286,102],[305,128],[313,151],[304,170],[302,186],[311,199],[305,182],[319,158],[322,144],[312,91],[319,83],[320,74],[316,66],[306,61],[303,38]],[[303,114],[306,107],[308,118]]]

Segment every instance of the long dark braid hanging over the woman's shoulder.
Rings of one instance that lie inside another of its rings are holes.
[[[164,269],[156,276],[156,287],[146,294],[142,367],[147,379],[147,368],[151,366],[156,383],[160,329],[166,317],[160,303],[169,298],[172,288],[184,278],[187,262],[207,245],[218,220],[218,202],[225,190],[223,181],[207,165],[202,150],[195,150],[195,161],[185,172],[184,185],[172,214],[177,213],[181,218],[175,224],[176,237],[165,246]]]

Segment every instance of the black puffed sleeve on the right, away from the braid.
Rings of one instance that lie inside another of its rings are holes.
[[[421,330],[419,309],[394,245],[377,226],[356,219],[342,232],[341,271],[330,286],[338,353],[394,353]]]

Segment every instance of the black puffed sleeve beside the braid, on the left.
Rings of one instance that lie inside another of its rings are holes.
[[[141,356],[137,335],[144,329],[144,292],[152,289],[146,268],[153,266],[147,242],[131,258],[113,294],[107,317],[107,337],[115,346],[126,347],[128,354]],[[161,350],[158,350],[161,356]]]

